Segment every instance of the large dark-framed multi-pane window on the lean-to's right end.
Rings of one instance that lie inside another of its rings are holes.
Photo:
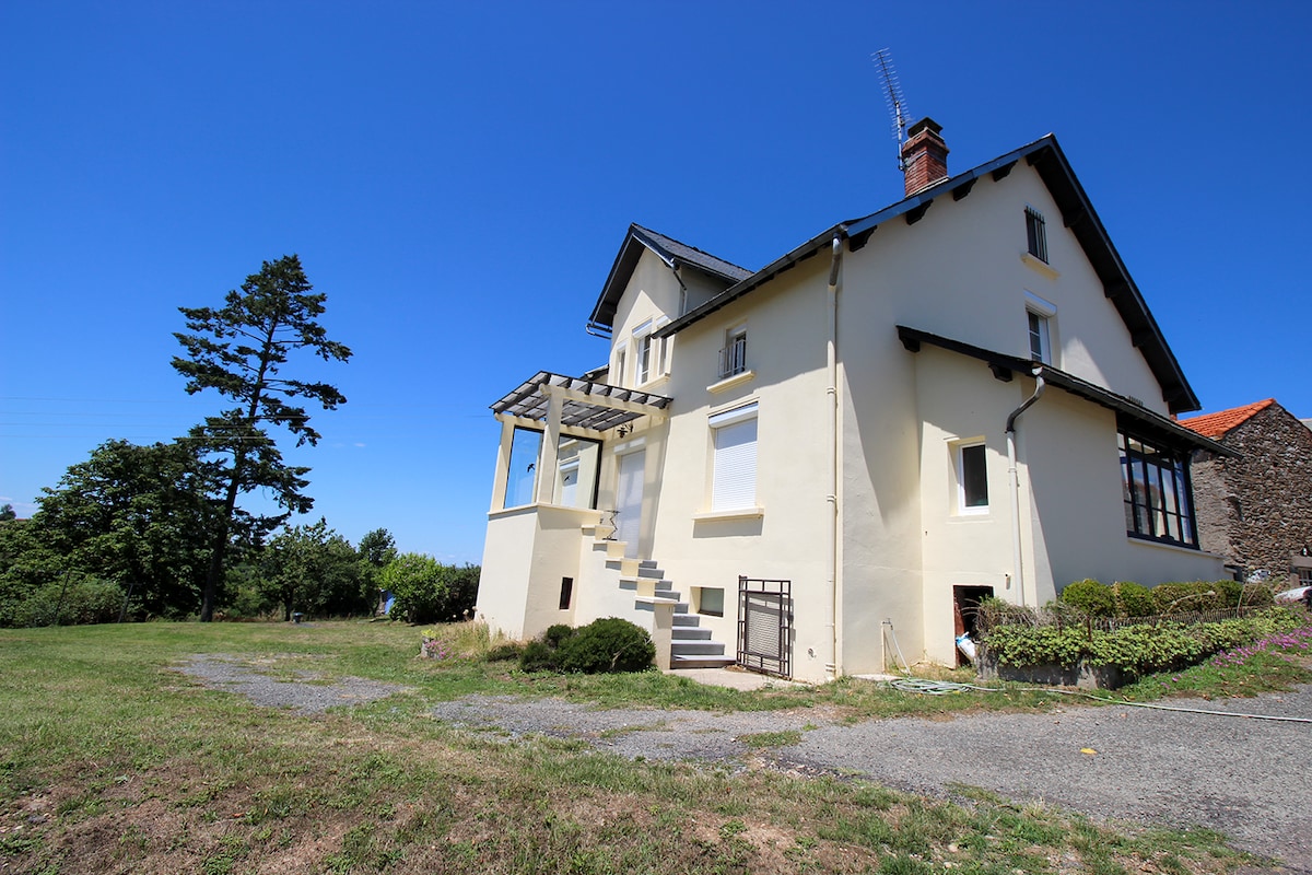
[[[1198,547],[1189,454],[1122,432],[1120,488],[1126,533],[1164,543]]]

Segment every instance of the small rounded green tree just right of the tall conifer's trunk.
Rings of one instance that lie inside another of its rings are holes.
[[[293,611],[323,617],[369,609],[359,555],[323,518],[273,538],[261,565],[266,592],[282,602],[283,619]]]

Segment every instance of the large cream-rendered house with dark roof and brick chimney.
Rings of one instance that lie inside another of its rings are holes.
[[[984,596],[1223,575],[1181,428],[1199,408],[1048,135],[749,270],[631,226],[588,331],[501,422],[478,613],[622,617],[663,666],[808,681],[956,659]]]

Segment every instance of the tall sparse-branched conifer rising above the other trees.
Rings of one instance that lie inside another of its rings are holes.
[[[297,446],[319,442],[306,409],[295,403],[308,399],[323,409],[335,409],[346,397],[328,383],[286,379],[282,366],[293,352],[308,352],[324,361],[345,362],[350,349],[328,335],[318,319],[324,312],[325,295],[312,294],[300,260],[283,256],[265,261],[260,273],[251,274],[240,290],[227,294],[224,306],[180,307],[190,333],[176,333],[184,354],[173,367],[186,378],[189,395],[215,390],[234,404],[190,437],[218,459],[216,496],[220,500],[218,525],[210,543],[201,605],[201,621],[214,618],[215,597],[223,581],[223,563],[234,537],[258,540],[291,513],[307,513],[314,499],[304,495],[304,475],[310,468],[283,462],[266,426],[285,428],[297,436]],[[241,514],[237,497],[265,489],[286,510],[282,514]]]

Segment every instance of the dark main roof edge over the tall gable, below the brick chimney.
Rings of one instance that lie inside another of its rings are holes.
[[[1052,199],[1056,201],[1061,211],[1064,227],[1078,240],[1089,264],[1102,281],[1103,293],[1115,306],[1117,312],[1130,329],[1130,336],[1139,353],[1144,357],[1157,384],[1161,386],[1162,400],[1166,401],[1172,413],[1187,413],[1197,411],[1202,404],[1194,395],[1193,387],[1185,379],[1185,373],[1176,359],[1176,354],[1166,345],[1166,338],[1148,311],[1148,304],[1135,285],[1134,278],[1120,261],[1120,254],[1111,244],[1102,220],[1093,209],[1089,195],[1076,178],[1071,163],[1057,144],[1052,134],[1043,136],[1027,146],[1008,152],[992,161],[985,161],[979,167],[951,176],[937,185],[917,192],[878,213],[871,213],[859,219],[841,222],[832,228],[811,237],[800,247],[787,254],[774,260],[750,277],[726,289],[719,295],[711,298],[701,307],[689,311],[656,332],[657,337],[668,337],[720,310],[731,302],[741,298],[752,290],[765,285],[778,274],[790,270],[798,262],[806,261],[829,248],[834,236],[848,241],[848,248],[857,252],[866,245],[870,235],[880,224],[903,218],[908,224],[914,224],[925,215],[935,198],[951,194],[954,201],[967,197],[975,184],[984,178],[1005,178],[1021,160],[1026,161],[1039,173],[1047,185]]]

